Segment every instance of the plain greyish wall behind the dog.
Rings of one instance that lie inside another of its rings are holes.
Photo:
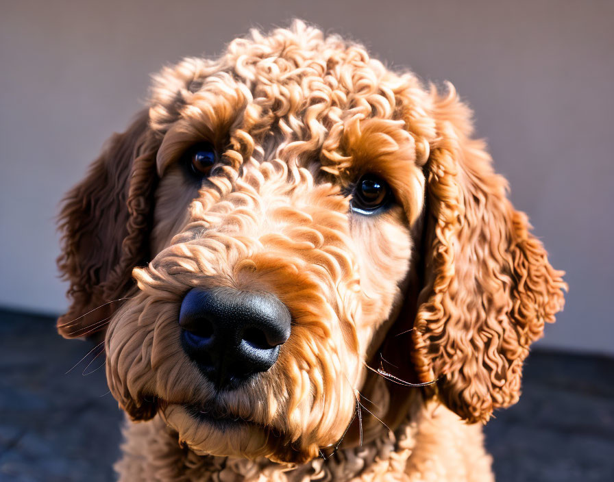
[[[149,74],[299,16],[452,81],[556,268],[541,346],[614,354],[614,2],[0,0],[0,306],[59,313],[54,217]]]

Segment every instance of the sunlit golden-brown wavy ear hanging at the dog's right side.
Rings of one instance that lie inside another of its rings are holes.
[[[488,420],[515,403],[521,368],[544,323],[563,308],[562,271],[548,263],[454,87],[432,89],[437,139],[425,166],[423,289],[411,332],[422,382],[459,416]]]

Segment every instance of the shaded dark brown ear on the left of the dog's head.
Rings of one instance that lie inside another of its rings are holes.
[[[132,268],[147,261],[158,145],[148,123],[145,110],[112,136],[62,201],[58,267],[70,282],[71,305],[58,318],[58,331],[65,338],[103,329],[130,290]]]

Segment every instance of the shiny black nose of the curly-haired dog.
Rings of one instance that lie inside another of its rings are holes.
[[[184,351],[217,388],[236,388],[277,361],[290,312],[272,294],[193,288],[181,304]]]

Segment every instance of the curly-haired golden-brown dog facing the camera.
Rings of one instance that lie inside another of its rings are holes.
[[[61,214],[121,480],[491,480],[565,283],[470,118],[300,22],[156,77]]]

